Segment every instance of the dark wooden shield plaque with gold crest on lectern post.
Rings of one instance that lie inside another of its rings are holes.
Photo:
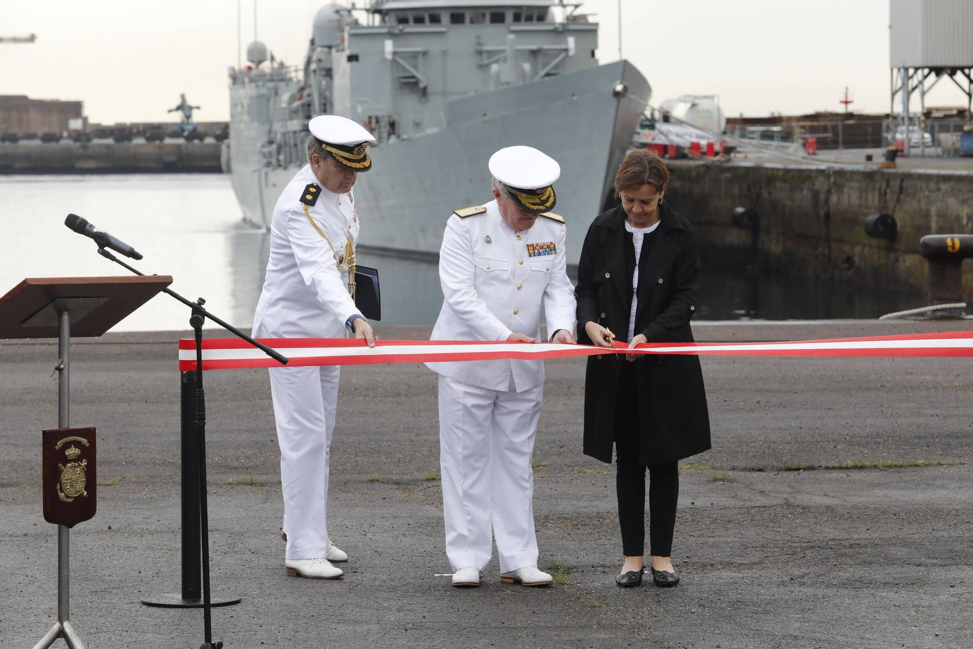
[[[44,519],[74,527],[97,509],[94,427],[53,428],[43,436]]]

